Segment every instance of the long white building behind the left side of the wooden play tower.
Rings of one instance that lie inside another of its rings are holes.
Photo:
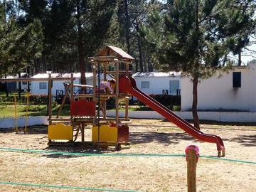
[[[80,84],[80,73],[73,73],[74,75],[74,84]],[[92,85],[92,73],[85,73],[86,83],[87,85]],[[70,73],[52,73],[52,78],[70,78]],[[32,78],[48,78],[47,73],[41,73],[34,75]],[[112,76],[107,75],[107,79],[112,78]],[[100,76],[100,80],[103,80],[103,75]],[[54,80],[52,87],[52,95],[55,96],[60,94],[61,92],[65,93],[65,88],[63,83],[65,80]],[[31,94],[38,95],[47,95],[48,94],[48,81],[31,81]]]

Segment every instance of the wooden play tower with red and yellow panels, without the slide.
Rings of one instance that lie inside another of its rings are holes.
[[[89,58],[93,73],[92,85],[74,84],[73,74],[70,75],[70,82],[64,84],[65,97],[56,117],[52,116],[51,100],[49,100],[49,145],[97,144],[97,146],[119,147],[121,144],[129,144],[127,124],[129,124],[128,105],[131,95],[119,92],[119,78],[131,75],[129,65],[132,60],[134,58],[121,48],[105,46],[94,57]],[[116,80],[116,88],[112,94],[97,91],[100,81],[107,81],[107,76]],[[74,87],[79,87],[82,92],[74,94]],[[70,118],[60,117],[67,99],[70,102]],[[107,100],[114,100],[115,117],[107,117]],[[121,101],[125,103],[124,118],[119,117]],[[85,127],[88,125],[92,125],[91,142],[85,142]],[[81,141],[76,142],[79,133]]]

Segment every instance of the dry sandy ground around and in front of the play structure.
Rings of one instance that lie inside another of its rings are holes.
[[[183,154],[196,144],[201,155],[216,156],[215,144],[199,142],[163,120],[132,119],[130,149],[105,153]],[[228,159],[256,161],[255,124],[202,124],[202,131],[223,138]],[[86,130],[90,140],[90,129]],[[31,127],[29,134],[0,132],[0,147],[79,151],[79,147],[47,146],[46,127]],[[186,191],[183,157],[63,156],[0,151],[0,181],[42,183],[135,191]],[[256,191],[256,165],[201,158],[198,191]],[[75,191],[70,189],[8,186],[0,191]]]

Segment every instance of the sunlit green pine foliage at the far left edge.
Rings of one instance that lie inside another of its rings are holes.
[[[41,22],[34,20],[26,27],[19,26],[13,5],[6,9],[6,5],[0,4],[0,75],[18,73],[42,49]]]

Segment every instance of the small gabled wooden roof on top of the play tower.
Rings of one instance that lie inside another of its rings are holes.
[[[120,60],[134,60],[134,58],[128,53],[126,53],[124,50],[122,50],[122,48],[117,48],[114,46],[105,46],[101,48],[95,56],[114,56]]]

